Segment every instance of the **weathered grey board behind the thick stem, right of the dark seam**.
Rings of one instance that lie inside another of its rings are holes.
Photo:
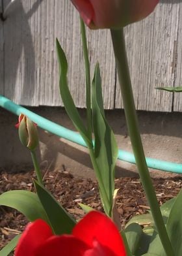
[[[127,55],[138,110],[172,111],[172,94],[155,89],[174,86],[175,40],[179,6],[160,3],[145,20],[125,29]],[[121,106],[119,86],[116,108]]]

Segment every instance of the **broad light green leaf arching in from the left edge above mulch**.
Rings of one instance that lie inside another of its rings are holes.
[[[0,205],[14,208],[25,215],[29,221],[44,219],[47,221],[45,213],[38,196],[31,191],[12,190],[0,195]]]

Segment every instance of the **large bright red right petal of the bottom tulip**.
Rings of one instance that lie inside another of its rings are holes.
[[[93,242],[97,240],[101,246],[106,246],[116,255],[126,255],[118,229],[109,217],[100,212],[92,211],[81,219],[73,228],[73,235],[92,248]]]

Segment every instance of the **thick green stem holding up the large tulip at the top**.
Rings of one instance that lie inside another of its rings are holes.
[[[149,202],[151,214],[155,221],[155,226],[159,233],[162,246],[167,256],[174,256],[174,250],[172,244],[168,238],[164,221],[162,219],[161,210],[157,202],[155,190],[149,176],[149,170],[146,165],[146,158],[144,155],[144,149],[142,146],[142,140],[140,137],[138,119],[136,116],[135,102],[133,98],[133,91],[131,87],[131,79],[129,75],[129,67],[127,63],[127,54],[125,51],[125,40],[123,36],[123,29],[110,30],[112,37],[112,44],[114,48],[114,55],[116,59],[116,67],[118,70],[118,78],[120,82],[120,88],[122,91],[123,106],[125,110],[125,118],[127,122],[127,129],[133,146],[133,153],[135,155],[136,166],[140,174],[140,180],[144,187],[146,197]]]

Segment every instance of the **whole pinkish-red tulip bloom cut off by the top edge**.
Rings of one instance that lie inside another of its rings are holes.
[[[72,0],[92,29],[120,28],[146,18],[159,0]]]

